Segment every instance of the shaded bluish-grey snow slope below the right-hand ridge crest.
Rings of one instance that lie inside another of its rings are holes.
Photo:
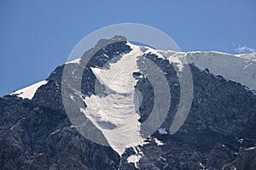
[[[244,57],[241,57],[244,56]],[[232,55],[218,52],[190,52],[182,55],[189,63],[200,69],[208,69],[214,75],[227,80],[240,82],[252,90],[256,90],[256,60],[249,55]],[[170,56],[172,58],[172,56]]]

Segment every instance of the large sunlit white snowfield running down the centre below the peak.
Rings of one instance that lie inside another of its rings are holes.
[[[142,54],[138,46],[131,45],[131,52],[110,63],[109,70],[91,68],[97,79],[109,90],[106,97],[91,95],[84,99],[84,112],[104,134],[113,150],[121,156],[125,148],[143,143],[140,118],[134,103],[137,80],[132,76],[138,71],[137,59]]]

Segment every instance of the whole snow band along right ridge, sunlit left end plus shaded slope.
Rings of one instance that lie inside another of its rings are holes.
[[[222,76],[226,80],[240,82],[251,90],[256,90],[256,55],[255,54],[224,54],[220,52],[174,52],[160,51],[149,48],[148,51],[168,59],[183,70],[183,64],[194,64],[201,70],[209,70],[213,75]]]

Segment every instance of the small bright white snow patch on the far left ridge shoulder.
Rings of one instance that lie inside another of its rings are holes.
[[[37,82],[35,84],[32,84],[31,86],[15,91],[11,95],[16,94],[18,97],[22,99],[32,99],[34,97],[34,94],[37,92],[38,88],[40,88],[47,82],[48,81],[45,81],[45,80],[42,82]]]

